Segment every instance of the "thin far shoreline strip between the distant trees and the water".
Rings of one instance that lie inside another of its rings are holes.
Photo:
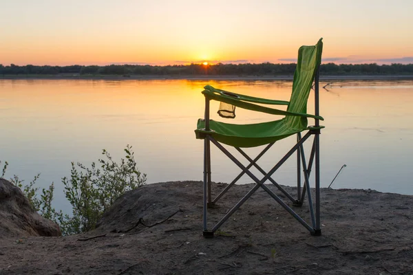
[[[0,76],[0,80],[293,80],[293,75],[284,76],[236,76],[236,75],[126,75],[126,76],[81,76],[79,74],[59,75],[17,75]],[[413,75],[339,75],[320,76],[321,81],[330,80],[413,80]]]

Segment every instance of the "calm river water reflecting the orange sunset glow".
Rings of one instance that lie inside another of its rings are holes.
[[[61,177],[70,162],[90,164],[103,148],[115,159],[131,144],[148,182],[202,179],[202,145],[195,140],[203,116],[204,85],[241,94],[289,100],[286,81],[194,80],[0,80],[0,159],[6,177],[56,186],[56,208],[69,209]],[[325,83],[324,83],[325,84]],[[321,87],[324,86],[321,83]],[[313,94],[309,111],[313,113]],[[321,89],[321,186],[372,188],[413,194],[413,82],[333,83]],[[213,118],[218,103],[211,105]],[[271,115],[237,109],[235,123],[272,120]],[[311,122],[310,122],[311,123]],[[284,155],[294,138],[277,142],[260,164],[266,170]],[[247,151],[258,153],[257,148]],[[213,150],[213,181],[229,182],[238,168]],[[295,184],[295,160],[275,173],[280,184]],[[241,183],[251,179],[242,177]],[[201,190],[200,190],[201,192]]]

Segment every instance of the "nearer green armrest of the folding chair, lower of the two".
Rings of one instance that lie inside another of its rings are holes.
[[[204,94],[205,98],[207,98],[209,100],[217,100],[217,101],[220,101],[220,102],[225,102],[225,103],[232,104],[232,105],[235,105],[237,107],[240,107],[242,109],[247,109],[247,110],[251,110],[251,111],[259,111],[259,112],[262,112],[262,113],[269,113],[271,115],[293,115],[293,116],[300,116],[300,117],[304,117],[304,118],[315,118],[317,120],[324,120],[324,118],[321,117],[320,115],[309,115],[308,113],[293,113],[293,112],[290,112],[290,111],[283,111],[283,110],[279,110],[279,109],[273,109],[273,108],[253,104],[253,103],[250,103],[250,102],[245,102],[241,98],[236,98],[236,97],[230,96],[228,94],[222,94],[218,91],[211,91],[209,89],[205,89],[204,91],[202,91],[202,94]]]

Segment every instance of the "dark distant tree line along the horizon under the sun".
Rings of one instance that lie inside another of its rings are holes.
[[[0,64],[0,75],[237,75],[237,76],[281,76],[290,75],[295,71],[296,64],[222,64],[215,65],[107,65],[107,66],[36,66],[36,65],[14,65],[3,66]],[[320,67],[324,75],[388,75],[388,74],[413,74],[413,64],[340,64],[327,63]]]

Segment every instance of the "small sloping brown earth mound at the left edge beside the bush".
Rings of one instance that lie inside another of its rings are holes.
[[[61,236],[61,230],[34,211],[20,188],[0,179],[0,239],[14,236]]]

